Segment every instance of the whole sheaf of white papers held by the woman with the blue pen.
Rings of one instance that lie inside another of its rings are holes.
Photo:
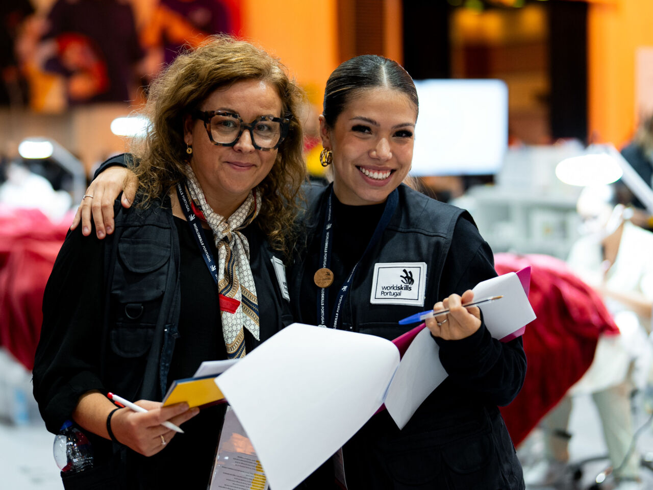
[[[527,274],[521,275],[524,280]],[[481,306],[494,338],[510,338],[535,319],[514,272],[484,281],[474,292],[503,295]],[[293,324],[215,378],[272,488],[302,482],[384,403],[398,427],[406,425],[447,377],[438,344],[423,325],[395,342],[403,348],[413,335],[400,359],[398,345],[381,337]]]

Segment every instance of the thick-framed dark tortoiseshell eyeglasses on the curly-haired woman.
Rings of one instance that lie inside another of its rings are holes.
[[[204,122],[208,138],[219,146],[234,146],[246,129],[257,150],[276,150],[290,127],[289,118],[261,116],[247,124],[234,112],[225,110],[195,110],[193,118]]]

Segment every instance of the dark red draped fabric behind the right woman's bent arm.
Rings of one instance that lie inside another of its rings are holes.
[[[601,297],[564,261],[549,255],[494,255],[498,274],[529,265],[528,299],[537,319],[523,336],[528,370],[517,398],[501,409],[515,445],[590,367],[599,335],[619,332]]]

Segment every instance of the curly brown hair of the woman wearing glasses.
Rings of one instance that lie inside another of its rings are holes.
[[[279,60],[261,48],[231,36],[215,35],[177,56],[150,85],[142,111],[150,125],[146,137],[133,142],[138,163],[132,170],[138,176],[143,206],[167,195],[186,176],[184,117],[217,88],[249,79],[263,80],[276,88],[281,114],[291,120],[272,171],[258,186],[264,204],[255,220],[270,246],[289,259],[306,181],[302,126],[297,117],[304,93]]]

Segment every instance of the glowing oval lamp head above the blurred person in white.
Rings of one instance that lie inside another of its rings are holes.
[[[612,184],[623,174],[619,163],[605,153],[566,158],[556,166],[556,176],[571,186]]]

